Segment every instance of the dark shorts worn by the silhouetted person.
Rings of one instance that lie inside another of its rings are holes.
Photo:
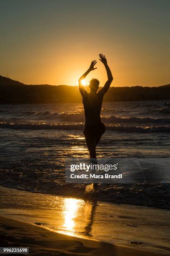
[[[99,138],[105,133],[104,123],[97,123],[95,125],[85,125],[85,130],[83,131],[86,140],[92,140],[94,138]]]

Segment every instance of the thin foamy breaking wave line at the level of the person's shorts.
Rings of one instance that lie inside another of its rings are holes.
[[[19,130],[83,130],[84,124],[49,124],[49,123],[6,123],[1,122],[0,128],[10,128]],[[106,125],[107,130],[118,132],[139,132],[139,133],[157,133],[170,132],[170,125],[166,126],[128,126],[128,125]]]

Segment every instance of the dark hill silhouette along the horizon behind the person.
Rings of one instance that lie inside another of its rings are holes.
[[[170,85],[110,87],[104,101],[170,100]],[[82,102],[78,86],[28,85],[0,76],[0,104]]]

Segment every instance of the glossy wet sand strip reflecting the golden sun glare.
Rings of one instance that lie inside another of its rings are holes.
[[[57,233],[170,253],[170,211],[0,187],[0,214]]]

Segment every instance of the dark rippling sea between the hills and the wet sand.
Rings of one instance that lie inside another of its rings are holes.
[[[170,102],[103,102],[97,158],[169,158]],[[82,103],[0,105],[0,185],[170,209],[170,184],[65,184],[68,159],[88,158]]]

